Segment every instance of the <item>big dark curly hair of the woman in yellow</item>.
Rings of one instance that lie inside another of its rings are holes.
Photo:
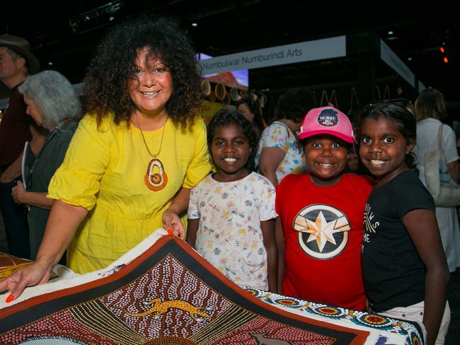
[[[183,128],[192,124],[202,101],[200,69],[188,37],[172,18],[141,16],[115,26],[96,50],[84,78],[86,112],[101,119],[129,123],[134,103],[128,83],[134,76],[137,53],[150,48],[171,72],[173,93],[166,103],[171,120]]]

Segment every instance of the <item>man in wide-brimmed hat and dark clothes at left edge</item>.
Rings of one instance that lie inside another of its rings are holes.
[[[11,90],[8,107],[0,122],[0,211],[9,253],[24,258],[30,257],[27,218],[23,206],[13,201],[11,189],[22,180],[23,149],[25,141],[32,139],[32,119],[26,113],[27,105],[18,86],[39,69],[40,63],[30,52],[27,40],[0,35],[0,80]]]

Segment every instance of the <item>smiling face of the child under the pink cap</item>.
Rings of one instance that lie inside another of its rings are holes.
[[[334,185],[347,165],[348,146],[342,139],[320,134],[304,139],[304,154],[312,182]]]

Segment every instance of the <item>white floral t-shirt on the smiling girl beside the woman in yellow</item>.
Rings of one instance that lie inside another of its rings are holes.
[[[256,172],[234,182],[208,175],[190,193],[188,218],[200,218],[197,252],[243,286],[268,289],[260,222],[276,217],[275,187]]]

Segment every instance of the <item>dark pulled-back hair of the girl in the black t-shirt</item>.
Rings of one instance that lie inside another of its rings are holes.
[[[367,105],[362,110],[360,125],[365,119],[379,119],[384,117],[393,122],[396,129],[406,139],[407,143],[414,143],[417,140],[417,123],[414,115],[406,107],[389,102],[379,102]],[[406,154],[406,164],[409,169],[415,168],[415,153],[410,151]]]

